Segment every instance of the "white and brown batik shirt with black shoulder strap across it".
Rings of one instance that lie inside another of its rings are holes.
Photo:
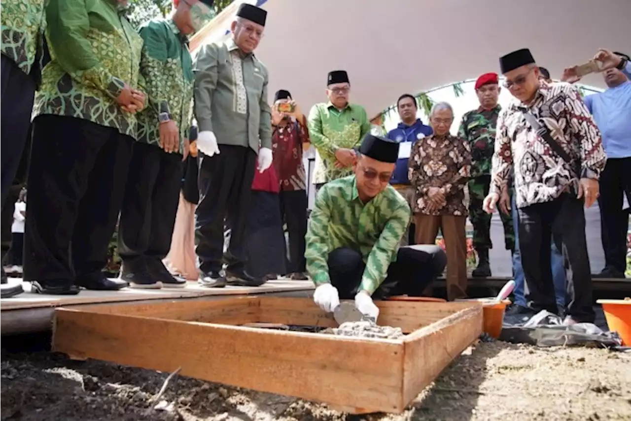
[[[551,150],[532,129],[526,113],[545,125],[572,163]],[[550,202],[577,192],[579,178],[599,179],[606,163],[600,130],[577,88],[541,82],[529,105],[514,99],[497,120],[491,191],[500,192],[515,175],[517,207]]]

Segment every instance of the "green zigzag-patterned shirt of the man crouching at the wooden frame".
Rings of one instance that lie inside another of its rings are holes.
[[[410,216],[410,205],[391,185],[363,204],[354,175],[326,183],[315,199],[305,237],[307,271],[314,284],[331,282],[329,253],[350,247],[366,263],[360,290],[375,292],[396,260]]]

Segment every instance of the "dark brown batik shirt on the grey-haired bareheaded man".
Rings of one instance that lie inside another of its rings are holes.
[[[412,147],[408,163],[410,183],[416,192],[414,212],[433,216],[467,216],[464,185],[471,171],[471,149],[462,137],[425,137]],[[430,187],[442,188],[445,204],[437,211],[428,211]]]

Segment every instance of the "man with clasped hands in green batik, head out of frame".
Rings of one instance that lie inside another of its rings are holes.
[[[35,98],[24,279],[42,294],[117,290],[102,270],[136,137],[142,38],[126,0],[49,0]]]

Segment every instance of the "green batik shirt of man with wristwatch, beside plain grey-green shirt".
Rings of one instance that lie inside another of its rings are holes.
[[[173,21],[154,20],[140,28],[144,40],[140,73],[149,105],[138,115],[138,141],[158,145],[159,113],[170,113],[180,129],[180,152],[191,127],[192,59],[188,40]]]

